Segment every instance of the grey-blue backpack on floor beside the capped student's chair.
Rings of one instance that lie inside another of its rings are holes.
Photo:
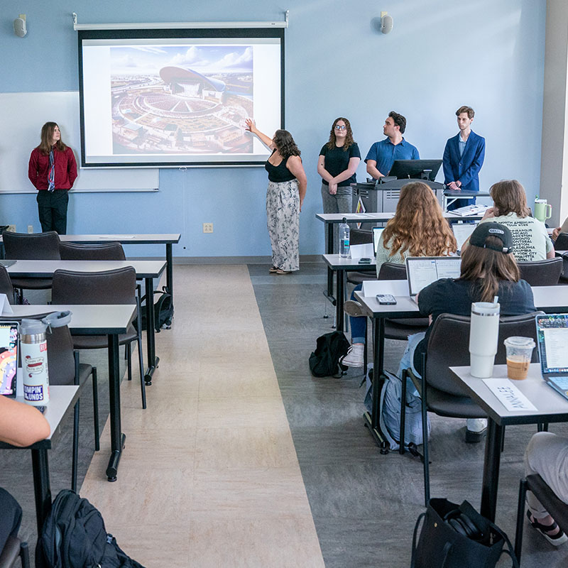
[[[403,391],[403,381],[389,371],[383,371],[385,382],[381,389],[379,424],[381,432],[386,437],[389,447],[393,450],[398,449],[400,444],[400,395]],[[366,376],[366,395],[365,406],[371,412],[372,399],[372,378],[373,369],[371,368]],[[406,385],[406,405],[405,405],[405,426],[404,444],[420,446],[422,444],[422,408],[420,396],[415,394],[415,388],[407,378]],[[428,436],[430,437],[430,418],[428,418]]]

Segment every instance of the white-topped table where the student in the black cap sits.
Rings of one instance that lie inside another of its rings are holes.
[[[391,293],[392,283],[406,283],[406,280],[377,280],[377,294]],[[408,287],[408,286],[407,286]],[[568,312],[568,287],[567,286],[533,286],[532,295],[537,310],[547,313]],[[385,349],[385,320],[387,318],[417,317],[420,314],[417,303],[409,296],[395,296],[395,305],[380,305],[373,296],[364,296],[362,290],[355,293],[355,297],[361,302],[361,307],[366,316],[373,319],[373,402],[372,412],[364,414],[364,424],[368,427],[381,453],[388,452],[386,437],[381,432],[379,425],[379,393],[383,388],[384,374],[383,361]]]

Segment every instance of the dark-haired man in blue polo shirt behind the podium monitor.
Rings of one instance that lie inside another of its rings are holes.
[[[373,179],[388,175],[395,160],[420,160],[417,148],[403,138],[405,130],[405,117],[395,111],[389,112],[383,126],[387,138],[375,142],[365,158],[367,173]]]

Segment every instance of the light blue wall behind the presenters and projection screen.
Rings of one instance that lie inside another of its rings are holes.
[[[406,116],[405,136],[422,158],[439,158],[457,132],[455,109],[470,104],[474,130],[487,140],[481,187],[518,178],[529,200],[538,192],[545,0],[4,0],[2,8],[0,92],[78,89],[72,11],[80,23],[107,23],[272,21],[290,9],[285,112],[308,178],[302,254],[323,249],[314,217],[321,211],[317,155],[339,115],[351,120],[366,153],[394,109]],[[394,18],[390,35],[373,28],[381,10]],[[18,13],[28,17],[23,39],[11,31]],[[364,166],[358,175],[364,180]],[[265,187],[261,168],[165,169],[158,193],[72,195],[68,231],[181,232],[175,256],[268,255]],[[0,195],[0,212],[26,230],[35,196]],[[213,234],[202,234],[203,222],[214,223]]]

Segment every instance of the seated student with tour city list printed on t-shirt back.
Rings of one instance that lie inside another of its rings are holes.
[[[555,251],[546,226],[530,216],[525,188],[517,180],[503,180],[491,186],[493,207],[487,209],[480,223],[501,223],[513,234],[513,254],[518,262],[554,258]],[[463,247],[462,247],[463,250]]]

